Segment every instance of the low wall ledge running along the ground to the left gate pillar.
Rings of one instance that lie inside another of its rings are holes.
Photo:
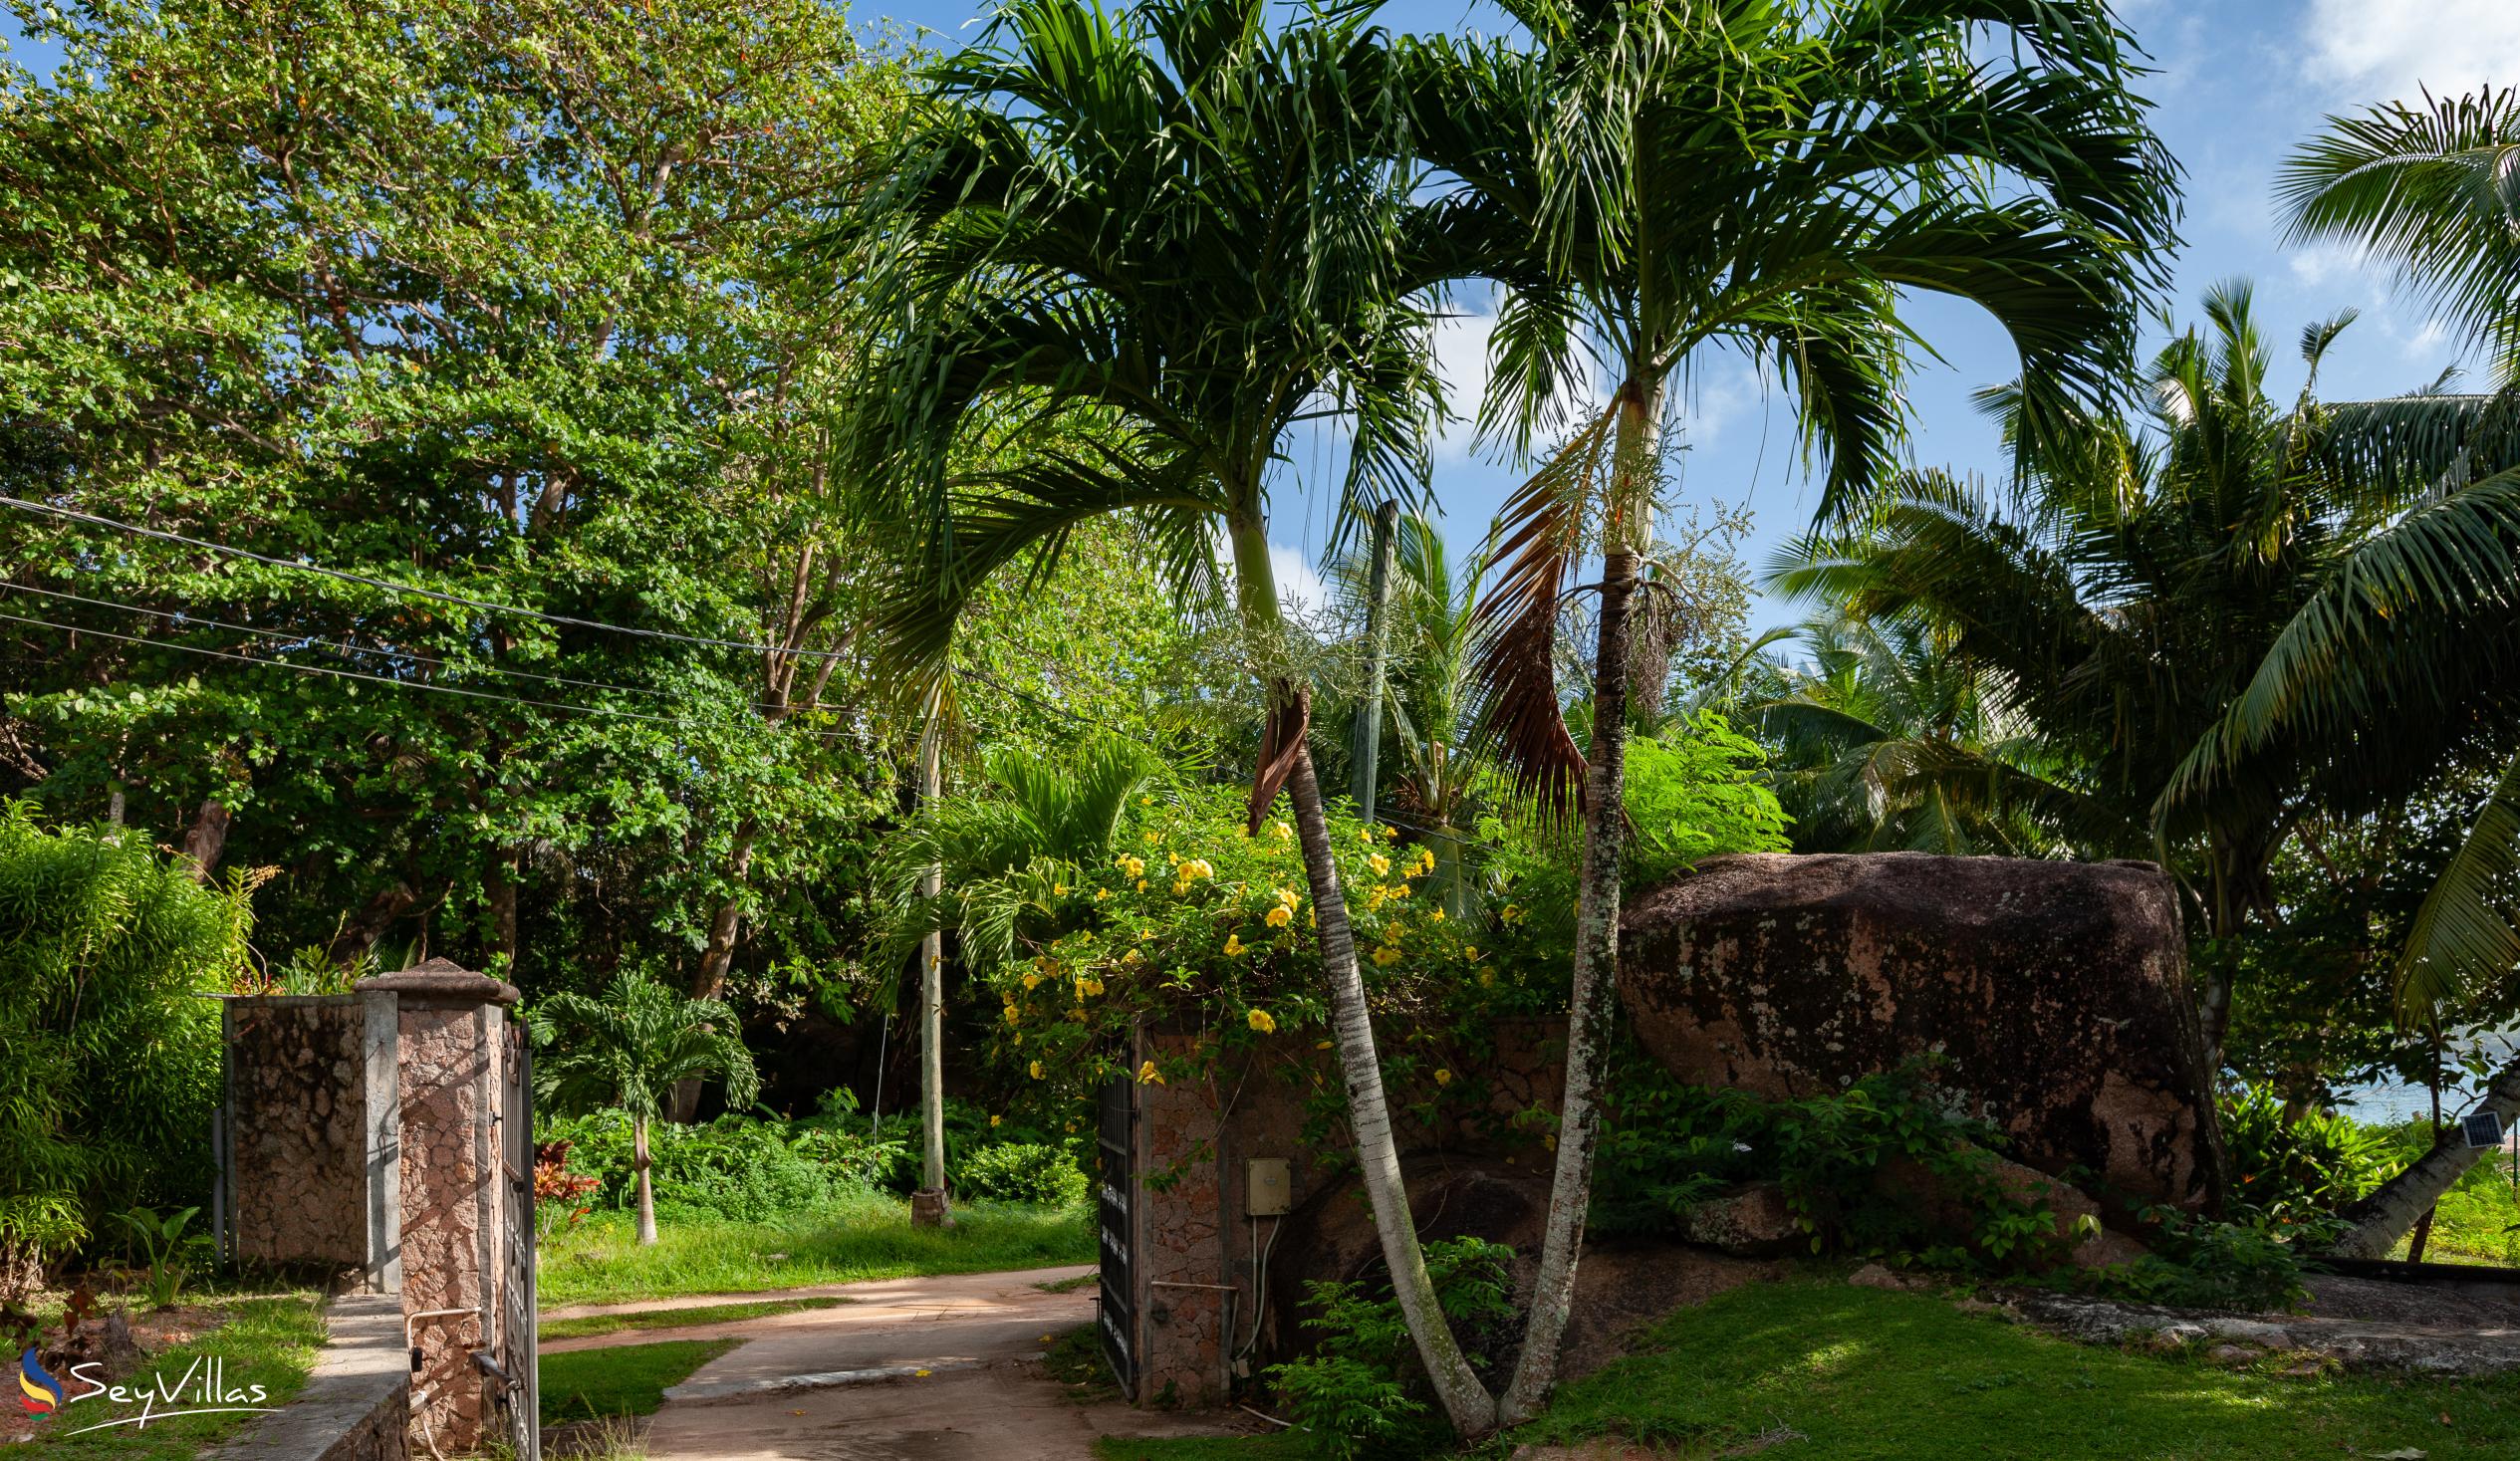
[[[207,1461],[406,1461],[411,1350],[393,1295],[348,1295],[325,1310],[315,1375],[275,1416],[204,1453]]]

